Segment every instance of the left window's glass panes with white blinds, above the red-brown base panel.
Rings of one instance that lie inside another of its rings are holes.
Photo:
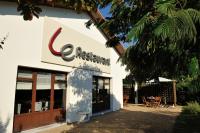
[[[64,109],[66,84],[65,73],[19,68],[15,114]]]

